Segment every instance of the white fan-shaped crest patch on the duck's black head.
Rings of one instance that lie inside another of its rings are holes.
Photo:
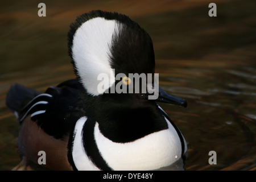
[[[116,20],[93,18],[83,23],[73,36],[72,56],[84,88],[92,96],[105,90],[97,89],[100,73],[109,76],[108,85],[115,82],[114,71],[110,67],[112,39],[118,34],[120,24]]]

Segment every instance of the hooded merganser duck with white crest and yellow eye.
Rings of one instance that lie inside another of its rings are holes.
[[[101,10],[71,24],[68,48],[77,78],[45,93],[11,86],[6,104],[18,118],[18,147],[30,169],[154,170],[187,156],[187,143],[156,101],[187,106],[156,86],[158,93],[110,92],[133,85],[129,73],[155,72],[152,40],[126,15]],[[108,78],[105,87],[98,75]],[[126,77],[116,78],[118,73]],[[147,83],[148,84],[148,83]],[[121,86],[121,87],[122,87]],[[103,89],[102,89],[103,88]],[[109,92],[108,92],[109,91]],[[39,151],[46,163],[39,164]]]

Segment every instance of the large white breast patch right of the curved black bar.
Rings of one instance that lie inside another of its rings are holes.
[[[168,129],[129,143],[112,142],[102,135],[96,123],[94,138],[102,157],[114,170],[158,169],[169,166],[181,157],[179,135],[168,121],[167,123]]]

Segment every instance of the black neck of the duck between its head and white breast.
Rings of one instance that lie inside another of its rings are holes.
[[[168,129],[158,105],[135,94],[82,96],[86,116],[97,122],[101,133],[113,142],[132,142],[156,131]]]

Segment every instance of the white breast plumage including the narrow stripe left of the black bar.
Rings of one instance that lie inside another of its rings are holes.
[[[99,170],[86,155],[82,143],[82,127],[87,118],[80,118],[75,126],[73,162],[79,170]],[[170,122],[168,129],[158,131],[129,143],[116,143],[104,137],[96,122],[94,139],[102,158],[114,170],[153,170],[170,166],[181,158],[179,135]]]

